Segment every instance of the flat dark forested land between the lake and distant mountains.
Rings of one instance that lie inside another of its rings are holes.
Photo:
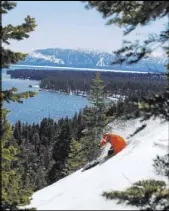
[[[41,80],[40,87],[65,93],[83,92],[89,94],[94,71],[56,71],[56,70],[8,70],[12,78],[30,78]],[[104,82],[104,91],[108,95],[120,94],[141,97],[153,92],[161,92],[167,81],[163,73],[121,73],[100,72]]]

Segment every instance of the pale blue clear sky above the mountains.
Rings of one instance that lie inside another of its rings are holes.
[[[123,39],[144,40],[151,33],[164,28],[166,19],[146,27],[138,27],[128,36],[115,25],[106,26],[106,20],[95,9],[86,10],[80,1],[18,1],[17,7],[3,15],[2,24],[18,25],[30,15],[37,27],[28,39],[11,41],[9,48],[25,53],[45,48],[93,49],[112,52]],[[155,52],[161,54],[161,49]]]

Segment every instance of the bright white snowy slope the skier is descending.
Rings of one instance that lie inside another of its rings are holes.
[[[149,120],[148,126],[128,139],[140,123],[138,120],[115,122],[112,132],[123,136],[128,146],[102,165],[59,180],[37,191],[28,207],[37,210],[134,210],[117,205],[101,196],[103,191],[123,190],[138,180],[159,179],[152,167],[156,155],[164,155],[168,146],[168,123]],[[164,179],[160,177],[160,179]]]

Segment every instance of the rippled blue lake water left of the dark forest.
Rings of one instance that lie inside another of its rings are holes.
[[[39,91],[39,88],[29,88],[29,85],[39,84],[39,81],[11,79],[4,71],[2,73],[2,89],[18,88],[18,91],[37,91],[38,95],[24,99],[23,104],[5,103],[4,107],[11,112],[8,120],[14,124],[18,120],[28,123],[38,123],[45,117],[58,120],[62,117],[72,117],[80,109],[89,105],[87,98],[66,95],[55,92]]]

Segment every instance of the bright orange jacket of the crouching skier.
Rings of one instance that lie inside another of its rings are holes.
[[[122,137],[120,137],[119,135],[104,134],[103,139],[100,142],[100,146],[102,147],[105,144],[107,144],[108,140],[110,140],[110,144],[112,145],[112,147],[114,149],[114,154],[117,154],[118,152],[120,152],[127,145],[125,140]]]

